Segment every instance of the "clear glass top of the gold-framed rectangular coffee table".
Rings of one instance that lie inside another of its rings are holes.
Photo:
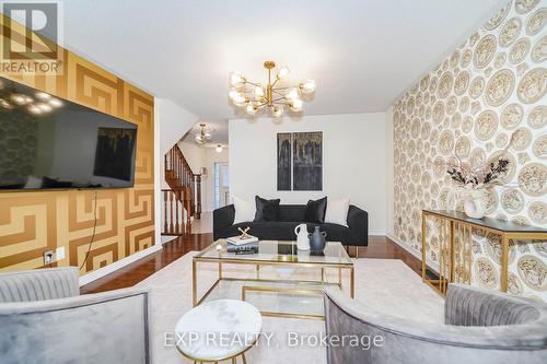
[[[228,253],[226,240],[218,239],[194,259],[242,260],[242,261],[277,261],[314,265],[352,265],[348,253],[339,242],[327,242],[322,256],[312,255],[310,250],[296,249],[296,242],[259,240],[258,253]]]

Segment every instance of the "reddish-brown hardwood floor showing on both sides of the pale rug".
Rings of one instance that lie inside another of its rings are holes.
[[[166,243],[151,254],[80,289],[82,294],[132,286],[191,250],[201,250],[212,243],[212,234],[188,234]],[[354,256],[354,247],[349,248]],[[369,236],[369,246],[359,248],[360,258],[400,259],[421,274],[421,262],[385,236]]]

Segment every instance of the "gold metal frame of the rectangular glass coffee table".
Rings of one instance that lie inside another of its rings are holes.
[[[350,296],[354,297],[356,290],[356,280],[354,280],[354,266],[350,260],[347,251],[344,249],[341,243],[338,242],[328,242],[327,244],[339,244],[341,251],[347,255],[348,263],[335,263],[335,262],[314,262],[314,261],[298,261],[296,256],[291,255],[278,255],[277,260],[254,260],[254,259],[237,259],[233,257],[221,257],[222,253],[219,253],[218,258],[203,257],[206,253],[216,248],[218,242],[214,242],[199,254],[194,256],[191,260],[191,297],[194,307],[201,304],[211,292],[219,285],[221,281],[247,281],[247,282],[269,282],[269,283],[299,283],[302,285],[306,284],[316,284],[317,289],[311,287],[275,287],[275,286],[242,286],[242,301],[245,301],[247,291],[259,291],[259,292],[272,292],[272,293],[293,293],[293,294],[303,294],[303,295],[323,295],[322,286],[325,284],[338,285],[340,290],[342,290],[342,269],[349,270],[349,285],[350,285]],[[279,244],[291,244],[295,246],[295,242],[279,242]],[[207,289],[206,293],[201,297],[198,297],[197,293],[197,281],[198,281],[198,262],[208,262],[208,263],[218,263],[219,275],[218,279]],[[255,266],[256,267],[256,278],[231,278],[224,277],[222,272],[222,266],[225,263],[230,265],[245,265],[245,266]],[[319,280],[281,280],[281,279],[261,279],[260,278],[260,267],[261,266],[290,266],[290,267],[300,267],[300,268],[321,268],[321,279]],[[329,283],[326,278],[326,269],[337,269],[338,270],[338,282]],[[307,319],[325,319],[324,315],[307,315],[307,314],[291,314],[291,313],[278,313],[278,312],[264,312],[260,310],[263,316],[270,317],[287,317],[287,318],[307,318]]]

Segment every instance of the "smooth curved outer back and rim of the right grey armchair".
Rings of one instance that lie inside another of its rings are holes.
[[[500,293],[498,293],[500,294]],[[522,325],[462,327],[391,316],[366,302],[358,302],[338,287],[325,289],[327,337],[364,334],[383,338],[383,345],[329,345],[327,362],[342,363],[545,363],[547,307],[535,306],[536,319]],[[371,341],[368,341],[371,343]],[[522,357],[526,355],[526,360]]]

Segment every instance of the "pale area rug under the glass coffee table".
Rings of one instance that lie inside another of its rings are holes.
[[[191,308],[191,257],[195,251],[158,271],[137,284],[152,292],[151,336],[152,363],[191,363],[183,357],[165,338],[174,331],[176,321]],[[366,259],[354,261],[356,300],[369,306],[398,317],[412,317],[421,321],[443,320],[443,300],[421,278],[398,259]],[[249,268],[251,269],[251,268]],[[275,270],[275,268],[271,268]],[[225,275],[245,274],[241,266],[225,266]],[[276,271],[264,272],[275,274]],[[277,272],[279,273],[279,272]],[[307,271],[281,272],[282,274],[314,274]],[[200,292],[213,282],[218,274],[217,265],[199,266]],[[263,274],[263,268],[260,269]],[[336,272],[333,272],[336,274]],[[299,277],[300,278],[300,277]],[[345,282],[348,277],[345,274]],[[348,284],[345,286],[348,287]],[[326,349],[309,337],[319,337],[324,321],[293,318],[263,318],[263,331],[271,334],[269,344],[260,343],[247,351],[248,363],[326,363]],[[299,343],[288,332],[296,332]],[[241,361],[241,359],[240,359]],[[228,362],[226,362],[228,363]]]

